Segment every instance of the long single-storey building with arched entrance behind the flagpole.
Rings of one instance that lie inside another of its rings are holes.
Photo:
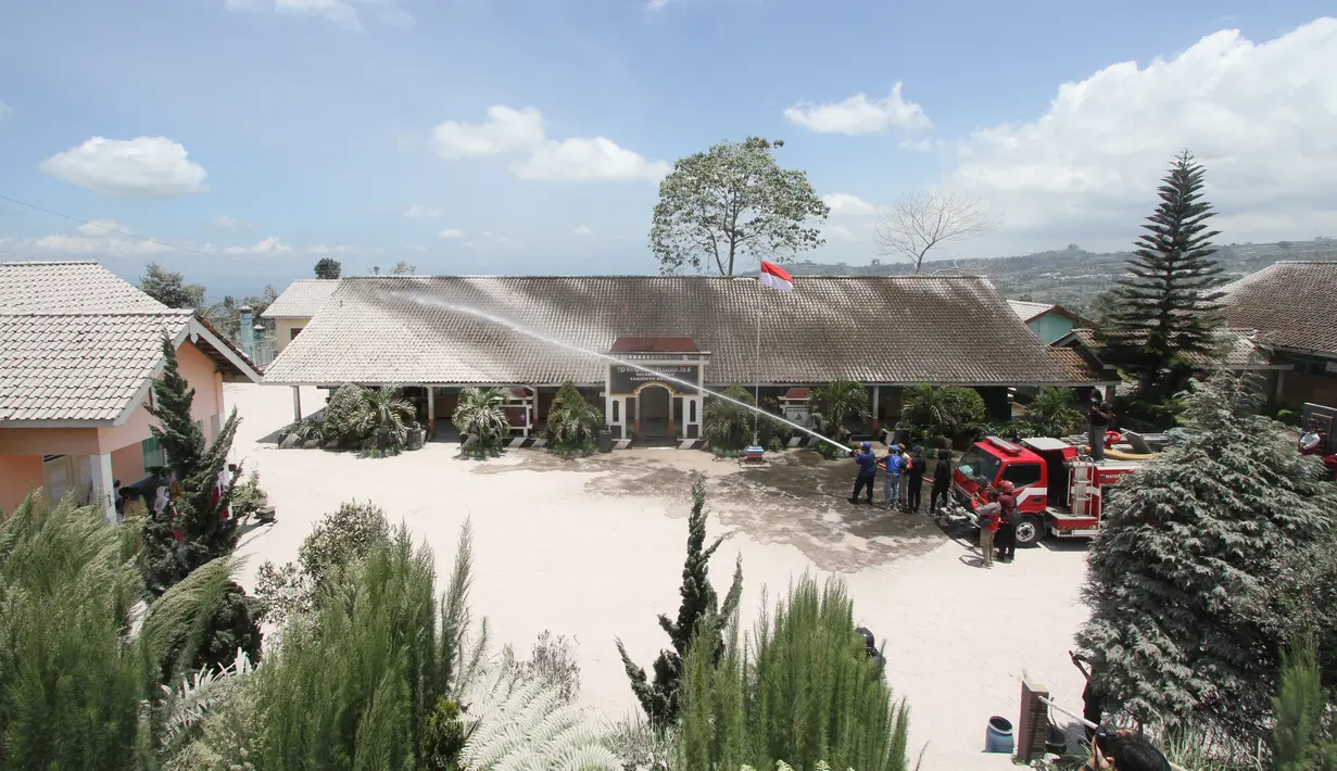
[[[975,388],[1005,420],[1012,386],[1103,377],[1042,343],[979,277],[797,277],[792,293],[722,277],[350,277],[265,382],[404,386],[432,426],[448,425],[461,388],[500,386],[528,430],[571,379],[622,440],[699,441],[702,389],[759,381],[778,402],[854,379],[876,432],[912,385]]]

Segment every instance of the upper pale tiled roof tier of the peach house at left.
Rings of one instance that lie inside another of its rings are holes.
[[[167,306],[96,262],[0,262],[0,310],[159,313]]]

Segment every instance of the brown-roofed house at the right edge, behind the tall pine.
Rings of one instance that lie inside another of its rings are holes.
[[[1222,291],[1230,326],[1271,349],[1273,397],[1337,406],[1337,262],[1282,261]]]

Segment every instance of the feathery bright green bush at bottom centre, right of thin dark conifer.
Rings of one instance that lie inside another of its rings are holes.
[[[838,579],[802,576],[774,612],[762,607],[751,640],[727,619],[718,665],[709,645],[683,664],[681,768],[836,768],[904,771],[909,708],[896,703],[854,631]],[[717,633],[710,625],[698,635]]]

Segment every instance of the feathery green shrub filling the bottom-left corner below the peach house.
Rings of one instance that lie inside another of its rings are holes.
[[[193,668],[238,561],[206,563],[144,608],[131,544],[68,497],[0,514],[0,768],[154,766],[178,746],[199,699],[162,683]]]

